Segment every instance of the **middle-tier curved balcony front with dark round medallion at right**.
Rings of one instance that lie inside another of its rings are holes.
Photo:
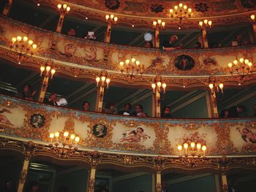
[[[189,85],[198,85],[209,76],[222,78],[227,85],[237,85],[234,81],[241,79],[241,76],[236,75],[236,71],[231,75],[227,64],[241,57],[248,58],[252,63],[256,60],[254,45],[165,52],[67,37],[9,18],[1,17],[0,20],[1,57],[17,62],[18,54],[10,50],[11,39],[27,36],[34,40],[38,47],[32,58],[23,58],[23,65],[38,67],[42,60],[50,58],[58,66],[58,72],[72,75],[72,77],[95,77],[94,74],[99,72],[99,69],[106,69],[113,74],[112,80],[127,82],[127,76],[121,75],[119,61],[134,57],[145,68],[143,76],[135,76],[134,82],[138,84],[150,81],[157,73],[162,74],[167,83],[170,82],[173,85],[182,85],[181,79],[184,78],[189,80]],[[255,64],[252,64],[252,73],[255,69]],[[254,81],[252,75],[243,78],[247,83]]]

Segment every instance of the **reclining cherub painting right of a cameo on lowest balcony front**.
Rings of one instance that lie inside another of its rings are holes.
[[[144,132],[143,128],[138,127],[136,130],[124,131],[123,138],[120,139],[120,142],[144,142],[146,139],[150,138],[151,137]]]

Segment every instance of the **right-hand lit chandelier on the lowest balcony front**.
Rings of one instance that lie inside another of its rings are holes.
[[[192,156],[192,157],[201,157],[203,155],[203,157],[206,156],[206,145],[202,145],[200,142],[190,142],[187,143],[185,142],[183,145],[178,145],[178,153],[179,153],[179,157],[188,157],[188,156]]]

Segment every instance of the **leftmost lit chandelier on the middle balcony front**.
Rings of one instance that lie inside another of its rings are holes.
[[[20,64],[26,55],[34,55],[37,44],[26,36],[12,37],[10,49],[14,49],[18,53],[18,64]]]

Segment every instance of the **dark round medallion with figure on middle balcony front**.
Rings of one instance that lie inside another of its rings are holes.
[[[195,61],[189,55],[179,55],[174,60],[174,65],[177,69],[182,71],[189,71],[195,66]]]

